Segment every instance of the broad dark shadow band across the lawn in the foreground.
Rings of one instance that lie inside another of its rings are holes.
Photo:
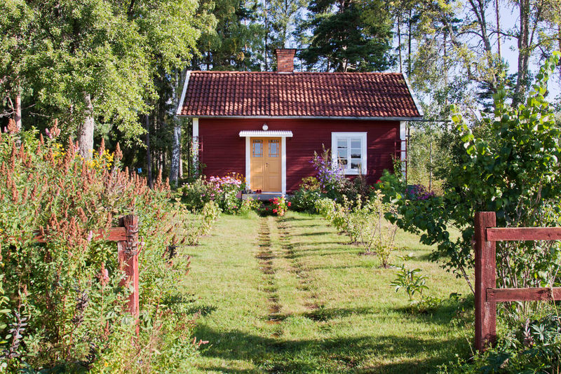
[[[350,313],[351,310],[333,312]],[[201,353],[203,356],[249,361],[255,363],[259,370],[269,373],[428,373],[454,359],[455,353],[466,354],[468,351],[467,342],[462,338],[436,340],[411,335],[364,335],[327,340],[283,340],[238,330],[216,331],[210,326],[198,326],[194,333],[197,338],[210,341],[210,346]],[[426,359],[421,360],[419,356],[426,356]],[[389,363],[363,365],[377,358]],[[250,373],[222,368],[207,369]]]

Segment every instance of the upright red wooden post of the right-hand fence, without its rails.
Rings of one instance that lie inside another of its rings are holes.
[[[487,289],[496,287],[495,242],[487,228],[496,226],[495,212],[475,213],[475,348],[483,352],[496,341],[496,302],[487,301]]]

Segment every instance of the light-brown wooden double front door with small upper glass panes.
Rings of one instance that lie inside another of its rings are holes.
[[[280,192],[280,138],[251,138],[251,189]]]

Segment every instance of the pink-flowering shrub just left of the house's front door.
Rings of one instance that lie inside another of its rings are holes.
[[[205,203],[214,201],[222,212],[238,214],[243,208],[241,191],[245,188],[243,176],[231,174],[219,177],[205,176],[187,183],[182,188],[183,202],[189,209],[200,210]]]

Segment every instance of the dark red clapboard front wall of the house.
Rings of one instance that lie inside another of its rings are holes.
[[[245,138],[242,130],[290,130],[286,143],[286,189],[295,191],[306,176],[315,170],[310,163],[313,151],[322,144],[331,148],[332,132],[367,132],[367,181],[375,183],[384,169],[391,169],[392,157],[399,155],[399,121],[318,120],[318,119],[244,119],[199,118],[198,134],[202,142],[199,160],[206,165],[203,174],[224,176],[231,172],[245,174]]]

